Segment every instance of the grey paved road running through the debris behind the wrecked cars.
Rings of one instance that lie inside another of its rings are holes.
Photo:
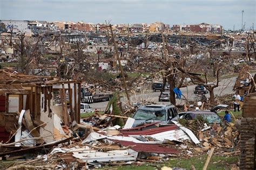
[[[214,88],[214,95],[226,95],[226,94],[232,94],[234,93],[232,91],[235,80],[236,80],[236,76],[235,77],[231,77],[229,79],[223,79],[219,82],[219,87]],[[182,94],[188,99],[188,100],[198,100],[198,96],[195,95],[193,93],[194,88],[196,87],[196,85],[191,85],[191,86],[187,86],[184,88],[180,88]],[[131,96],[131,101],[133,103],[137,103],[138,101],[140,101],[141,99],[143,100],[147,100],[147,101],[152,101],[152,102],[156,102],[156,103],[163,103],[163,104],[169,104],[170,102],[158,102],[158,96],[160,95],[160,92],[154,92],[150,89],[147,91],[147,93],[145,94],[139,94],[139,95],[133,95]],[[206,94],[206,97],[210,97],[209,94]],[[184,97],[183,97],[184,98]],[[125,102],[125,98],[122,97],[121,98],[122,102]],[[184,100],[178,100],[176,99],[176,103],[177,104],[183,104]],[[106,105],[107,105],[108,101],[106,102],[99,102],[99,103],[92,103],[90,104],[90,106],[92,108],[97,108],[100,110],[105,110]]]

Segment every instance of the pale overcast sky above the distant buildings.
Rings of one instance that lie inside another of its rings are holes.
[[[0,0],[0,19],[104,23],[221,24],[241,29],[256,23],[255,0]],[[256,26],[255,26],[256,27]]]

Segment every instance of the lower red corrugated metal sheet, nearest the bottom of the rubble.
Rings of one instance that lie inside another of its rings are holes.
[[[147,152],[147,153],[179,153],[174,148],[163,147],[159,144],[144,144],[144,143],[134,143],[132,141],[123,141],[123,140],[114,140],[117,143],[120,143],[123,146],[133,146],[132,150],[137,152]]]

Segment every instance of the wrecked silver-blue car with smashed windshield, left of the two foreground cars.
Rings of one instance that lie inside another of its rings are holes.
[[[150,104],[140,107],[132,116],[135,119],[133,127],[144,123],[159,122],[162,124],[171,123],[171,120],[179,118],[174,105]]]

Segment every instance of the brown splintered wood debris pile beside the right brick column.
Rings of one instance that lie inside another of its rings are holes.
[[[185,121],[186,127],[191,129],[198,137],[200,144],[198,146],[191,143],[181,144],[180,148],[186,156],[203,154],[212,147],[215,148],[214,154],[217,155],[239,155],[240,154],[240,123],[207,124],[204,120],[198,118],[192,121]]]

